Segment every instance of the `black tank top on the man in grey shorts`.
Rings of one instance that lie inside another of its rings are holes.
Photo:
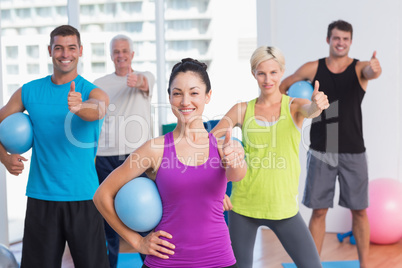
[[[331,106],[321,116],[312,121],[310,148],[320,152],[363,153],[366,151],[363,140],[361,103],[365,91],[356,74],[356,62],[342,73],[332,73],[325,58],[318,61],[314,77],[320,82],[320,91],[329,99]]]

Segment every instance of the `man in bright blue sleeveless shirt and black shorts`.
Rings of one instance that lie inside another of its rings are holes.
[[[21,267],[61,267],[67,242],[75,267],[107,268],[103,220],[92,197],[99,186],[94,159],[109,97],[77,72],[77,29],[55,28],[48,50],[53,74],[24,84],[0,109],[0,122],[26,110],[33,126]],[[17,176],[27,159],[0,146],[0,160]]]

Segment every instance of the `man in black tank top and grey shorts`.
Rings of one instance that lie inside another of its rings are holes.
[[[320,90],[331,106],[313,120],[303,204],[313,209],[309,228],[318,252],[325,236],[325,218],[333,207],[335,180],[340,185],[339,205],[352,212],[360,267],[367,267],[370,245],[368,171],[363,139],[361,103],[368,81],[381,74],[374,51],[369,61],[349,57],[352,25],[338,20],[328,26],[329,56],[307,62],[284,79],[280,89],[286,93],[297,81],[320,82]]]

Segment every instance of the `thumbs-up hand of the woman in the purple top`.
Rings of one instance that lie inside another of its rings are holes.
[[[244,149],[238,142],[232,140],[232,128],[226,131],[225,140],[223,142],[223,158],[222,162],[226,167],[240,167],[244,161]]]

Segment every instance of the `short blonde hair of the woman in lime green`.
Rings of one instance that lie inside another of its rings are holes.
[[[251,71],[254,73],[258,65],[267,60],[274,60],[279,64],[281,71],[285,70],[285,57],[277,47],[260,46],[250,58]]]

